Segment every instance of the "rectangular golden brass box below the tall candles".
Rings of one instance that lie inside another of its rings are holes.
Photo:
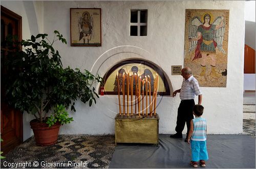
[[[116,115],[115,146],[117,143],[145,143],[158,145],[159,116]]]

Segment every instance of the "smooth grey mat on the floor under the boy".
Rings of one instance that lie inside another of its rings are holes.
[[[255,138],[248,135],[208,134],[207,151],[206,168],[255,168]],[[190,156],[184,138],[159,134],[158,147],[117,144],[110,168],[191,168]]]

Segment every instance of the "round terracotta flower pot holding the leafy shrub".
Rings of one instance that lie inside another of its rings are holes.
[[[38,146],[50,146],[57,142],[60,123],[55,123],[48,127],[46,123],[40,123],[36,119],[30,121],[30,126],[33,129],[35,142]]]

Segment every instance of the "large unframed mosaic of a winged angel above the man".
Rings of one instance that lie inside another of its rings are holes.
[[[186,13],[187,16],[191,16],[190,14],[189,12]],[[221,76],[227,74],[227,60],[223,60],[224,57],[227,58],[227,42],[225,48],[223,47],[224,37],[227,37],[225,34],[228,33],[225,20],[227,17],[225,18],[223,13],[215,13],[214,16],[207,10],[201,14],[201,16],[197,14],[188,17],[188,31],[186,32],[186,38],[188,38],[187,55],[191,56],[191,63],[198,63],[197,66],[194,64],[194,67],[197,70],[199,81],[204,81],[202,86],[225,86],[223,79],[222,81],[220,80]],[[186,63],[184,64],[186,65]],[[222,66],[220,66],[221,64]],[[187,66],[193,67],[191,64]],[[220,82],[219,84],[218,81]],[[209,85],[210,82],[214,82],[215,85]]]

